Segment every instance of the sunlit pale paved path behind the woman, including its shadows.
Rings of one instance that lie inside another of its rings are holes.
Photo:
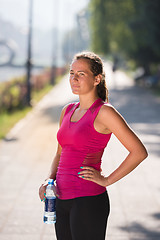
[[[160,101],[133,86],[125,74],[112,76],[106,64],[110,102],[149,151],[133,173],[108,187],[111,214],[107,240],[160,240]],[[0,143],[0,239],[55,240],[53,226],[42,222],[38,187],[56,150],[58,119],[64,104],[75,101],[65,78]],[[112,136],[103,157],[109,174],[127,151]],[[97,239],[98,240],[98,239]]]

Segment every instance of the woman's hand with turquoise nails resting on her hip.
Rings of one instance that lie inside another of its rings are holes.
[[[82,171],[78,173],[79,177],[88,180],[91,182],[95,182],[100,186],[106,187],[108,185],[107,177],[104,177],[101,174],[101,171],[96,170],[93,167],[81,167]]]

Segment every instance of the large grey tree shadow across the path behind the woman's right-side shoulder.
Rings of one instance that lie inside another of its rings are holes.
[[[111,104],[128,123],[160,123],[160,102],[146,89],[134,86],[111,90],[110,96]]]

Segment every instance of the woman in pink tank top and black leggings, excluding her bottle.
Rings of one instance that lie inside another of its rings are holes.
[[[59,144],[49,175],[56,179],[56,235],[58,240],[104,240],[110,208],[106,187],[136,168],[147,151],[122,116],[105,102],[107,89],[99,56],[77,54],[70,68],[70,85],[79,103],[62,110]],[[105,177],[101,157],[112,133],[129,154]],[[39,189],[41,200],[45,187],[42,184]]]

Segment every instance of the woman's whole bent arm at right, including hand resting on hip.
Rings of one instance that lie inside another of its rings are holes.
[[[113,107],[103,106],[99,114],[99,121],[104,126],[104,130],[112,132],[119,139],[129,151],[129,154],[108,177],[102,176],[91,167],[83,167],[80,177],[83,176],[83,179],[96,182],[102,186],[108,186],[133,171],[147,157],[147,151],[123,117]]]

